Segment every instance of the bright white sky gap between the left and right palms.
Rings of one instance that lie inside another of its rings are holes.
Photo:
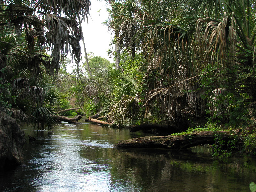
[[[93,52],[95,55],[99,55],[113,62],[113,57],[110,59],[106,52],[106,49],[110,48],[111,32],[108,31],[106,25],[102,24],[108,17],[106,1],[91,0],[90,18],[88,18],[88,23],[82,23],[82,29],[86,52]],[[83,42],[81,41],[80,44],[82,57],[84,57]]]

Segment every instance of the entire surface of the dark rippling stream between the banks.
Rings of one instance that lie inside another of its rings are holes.
[[[83,123],[51,132],[23,126],[26,166],[0,173],[0,192],[241,192],[256,182],[255,157],[214,161],[206,147],[183,151],[113,148],[145,136]],[[37,140],[29,143],[27,135]]]

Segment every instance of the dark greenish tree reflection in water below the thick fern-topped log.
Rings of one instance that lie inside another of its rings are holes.
[[[114,148],[112,153],[112,188],[127,183],[144,186],[139,191],[246,191],[245,183],[255,176],[243,159],[216,164],[191,151]]]

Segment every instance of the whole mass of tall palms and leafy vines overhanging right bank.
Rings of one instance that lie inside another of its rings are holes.
[[[232,116],[256,99],[255,2],[127,0],[116,10],[110,28],[148,60],[145,116],[156,102],[167,119],[213,116],[217,106]],[[216,89],[227,90],[222,104]]]

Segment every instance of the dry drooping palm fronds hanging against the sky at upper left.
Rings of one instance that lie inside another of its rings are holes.
[[[77,17],[89,14],[90,1],[2,1],[1,6],[1,32],[4,29],[15,32],[17,37],[25,36],[28,50],[31,57],[36,57],[30,53],[34,46],[48,48],[52,52],[51,62],[44,63],[46,69],[53,74],[59,69],[59,61],[62,54],[67,54],[68,47],[72,49],[72,55],[76,62],[80,60],[80,39],[81,29]],[[75,8],[76,7],[76,8]],[[85,19],[85,18],[83,18]],[[11,42],[2,41],[8,46],[14,46]],[[20,50],[21,51],[21,50]],[[1,58],[4,58],[4,53]],[[40,60],[41,59],[41,60]],[[3,68],[4,60],[1,63]],[[35,63],[35,68],[38,66]]]

